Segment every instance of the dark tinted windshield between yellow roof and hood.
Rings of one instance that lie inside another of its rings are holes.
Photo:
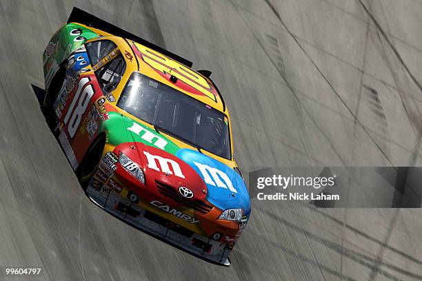
[[[168,85],[134,72],[117,106],[161,132],[230,159],[228,118]]]

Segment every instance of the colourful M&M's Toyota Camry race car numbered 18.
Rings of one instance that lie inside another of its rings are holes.
[[[250,218],[230,116],[208,70],[74,8],[43,53],[41,110],[89,198],[229,265]]]

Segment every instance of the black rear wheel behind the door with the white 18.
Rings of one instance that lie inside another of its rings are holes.
[[[63,81],[66,78],[66,67],[62,65],[57,70],[56,74],[46,90],[46,95],[44,96],[43,105],[41,106],[41,111],[46,117],[48,127],[53,131],[57,125],[57,116],[52,109],[53,103],[59,95]],[[54,132],[53,132],[54,133]]]

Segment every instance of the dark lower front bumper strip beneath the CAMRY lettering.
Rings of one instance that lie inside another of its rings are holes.
[[[120,196],[106,185],[94,187],[91,182],[86,193],[96,205],[133,227],[151,233],[184,251],[199,256],[199,258],[225,266],[230,265],[228,256],[232,249],[228,244],[200,236],[175,225],[174,222],[161,218]]]

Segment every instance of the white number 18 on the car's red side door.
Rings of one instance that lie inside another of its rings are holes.
[[[88,77],[83,77],[79,80],[77,91],[73,96],[72,103],[70,103],[68,112],[63,120],[65,125],[68,125],[70,138],[73,138],[74,134],[77,132],[77,129],[81,124],[83,113],[86,111],[86,107],[88,107],[90,99],[94,95],[94,87],[92,87],[92,84],[88,84],[89,82],[90,79]]]

